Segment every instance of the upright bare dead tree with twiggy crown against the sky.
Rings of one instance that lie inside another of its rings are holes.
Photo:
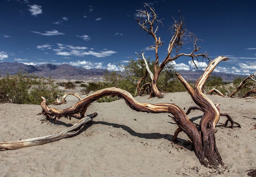
[[[145,3],[144,5],[145,10],[137,10],[138,13],[136,15],[136,20],[139,24],[140,29],[147,32],[147,35],[152,36],[154,38],[154,44],[149,47],[155,50],[155,66],[154,66],[154,75],[151,75],[151,87],[152,87],[152,93],[150,94],[150,97],[157,96],[162,97],[162,94],[157,89],[157,81],[159,78],[159,75],[161,71],[164,69],[167,63],[178,59],[180,56],[189,56],[192,58],[192,62],[195,64],[194,60],[198,60],[198,58],[206,58],[210,61],[210,58],[208,57],[208,53],[197,53],[198,50],[200,50],[201,47],[197,46],[196,42],[198,41],[198,38],[195,34],[189,32],[185,28],[184,24],[184,18],[181,17],[179,13],[179,18],[176,20],[173,18],[174,23],[172,27],[170,28],[171,31],[171,39],[167,48],[167,56],[164,58],[164,60],[159,64],[159,56],[158,56],[158,49],[163,45],[163,41],[161,41],[161,38],[157,36],[158,31],[158,25],[161,24],[161,20],[158,19],[157,14],[155,13],[155,9],[151,6],[147,5]],[[156,28],[155,28],[156,26]],[[189,39],[189,40],[186,40]],[[193,50],[190,53],[179,53],[179,50],[182,48],[183,44],[186,44],[188,42],[191,42],[194,47]],[[196,66],[196,64],[195,64]],[[196,66],[197,68],[197,66]],[[148,71],[148,69],[147,69]],[[152,72],[150,72],[152,73]],[[150,74],[149,73],[149,74]],[[142,78],[143,79],[143,78]]]

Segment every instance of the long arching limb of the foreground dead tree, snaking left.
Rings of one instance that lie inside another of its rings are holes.
[[[70,108],[66,108],[64,110],[59,110],[55,108],[50,108],[46,101],[43,100],[41,106],[43,108],[43,114],[48,117],[68,117],[73,114],[77,114],[80,111],[87,108],[92,102],[103,96],[119,96],[124,98],[126,104],[130,106],[133,110],[142,111],[142,112],[150,112],[150,113],[171,113],[173,114],[173,120],[177,123],[177,125],[189,136],[189,138],[194,143],[195,154],[200,160],[200,162],[204,166],[214,166],[217,167],[215,163],[212,163],[211,159],[207,159],[203,153],[203,144],[201,141],[201,133],[197,130],[197,127],[189,120],[186,113],[182,108],[175,104],[171,103],[158,103],[158,104],[150,104],[150,103],[139,103],[137,102],[133,96],[125,91],[116,87],[106,88],[102,90],[98,90],[89,96],[86,96],[81,101],[75,103]],[[223,163],[221,163],[223,164]]]

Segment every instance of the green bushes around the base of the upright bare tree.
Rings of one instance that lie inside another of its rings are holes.
[[[148,65],[150,68],[154,68],[155,61],[149,61]],[[149,95],[151,93],[151,78],[149,75],[145,75],[146,68],[144,66],[144,61],[139,58],[139,60],[130,60],[127,66],[124,66],[124,72],[106,72],[104,81],[101,82],[89,82],[86,84],[81,84],[84,87],[80,94],[89,94],[97,90],[101,90],[108,87],[118,87],[120,89],[126,90],[133,96]],[[140,85],[138,86],[139,80],[145,76]],[[140,87],[140,89],[138,89]],[[183,84],[176,78],[175,69],[173,65],[169,64],[160,73],[158,79],[158,89],[161,92],[183,92],[186,91]],[[141,90],[139,92],[138,90]],[[98,102],[111,102],[119,98],[104,97],[98,100]]]

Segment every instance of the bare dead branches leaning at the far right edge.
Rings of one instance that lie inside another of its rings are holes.
[[[244,80],[242,80],[239,84],[239,86],[236,88],[236,90],[234,90],[232,93],[230,93],[229,97],[232,97],[236,92],[238,92],[242,87],[246,87],[249,88],[251,86],[251,90],[249,90],[243,97],[246,97],[251,93],[256,92],[256,80],[254,79],[254,77],[256,77],[256,71],[254,72],[254,74],[251,74],[250,76],[248,76],[247,78],[245,78]],[[248,83],[247,81],[249,80],[253,80],[254,84]],[[249,86],[249,87],[248,87]]]

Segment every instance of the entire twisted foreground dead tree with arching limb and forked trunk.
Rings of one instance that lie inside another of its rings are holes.
[[[198,157],[199,161],[202,165],[206,167],[214,167],[223,166],[224,163],[220,157],[218,149],[216,147],[214,130],[216,124],[220,119],[220,110],[218,105],[214,105],[214,103],[207,96],[204,95],[203,88],[205,81],[208,79],[211,72],[217,66],[220,61],[228,60],[227,57],[219,56],[208,65],[203,75],[197,80],[195,84],[195,88],[193,89],[185,79],[177,73],[178,78],[184,84],[186,89],[189,91],[194,102],[200,107],[200,109],[204,112],[204,115],[201,118],[200,126],[197,128],[195,124],[193,124],[186,113],[182,108],[175,104],[171,103],[158,103],[158,104],[149,104],[149,103],[139,103],[137,102],[133,96],[125,91],[116,87],[106,88],[102,90],[98,90],[89,96],[86,96],[84,99],[78,101],[70,108],[66,108],[64,110],[59,110],[55,108],[50,108],[46,100],[43,98],[41,102],[41,106],[43,108],[42,114],[46,116],[46,119],[49,118],[60,118],[60,117],[77,117],[83,118],[84,113],[87,107],[94,102],[95,100],[103,97],[103,96],[119,96],[122,97],[126,104],[130,106],[133,110],[142,111],[142,112],[150,112],[150,113],[163,113],[167,112],[172,114],[172,119],[178,125],[178,129],[175,132],[174,137],[178,135],[180,131],[184,131],[189,138],[191,139],[195,155]],[[229,116],[232,120],[232,118]],[[10,143],[9,143],[10,144]],[[1,148],[1,143],[0,143]],[[10,148],[10,147],[9,147]]]

